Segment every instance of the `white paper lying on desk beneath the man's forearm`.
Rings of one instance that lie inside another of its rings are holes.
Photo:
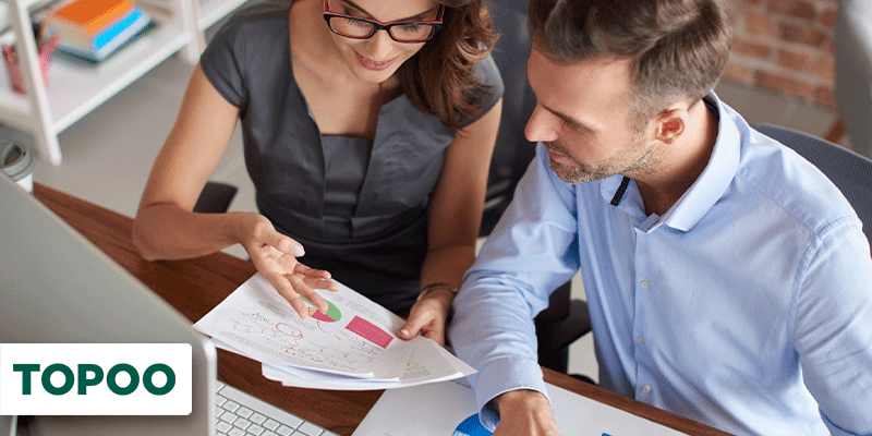
[[[676,436],[683,433],[547,385],[554,420],[565,436]],[[475,395],[465,379],[385,391],[352,436],[463,436],[475,415]]]

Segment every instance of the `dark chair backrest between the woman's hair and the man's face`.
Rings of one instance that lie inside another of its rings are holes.
[[[487,196],[481,235],[491,234],[511,202],[514,186],[535,155],[524,137],[524,126],[536,99],[526,83],[526,59],[532,46],[526,32],[526,1],[491,0],[494,31],[500,34],[493,57],[502,76],[502,119],[487,179]]]

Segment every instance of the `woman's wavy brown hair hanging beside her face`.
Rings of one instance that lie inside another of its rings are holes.
[[[486,86],[474,64],[487,58],[497,36],[483,0],[436,0],[445,8],[443,28],[398,70],[403,92],[415,107],[458,129],[481,110],[472,92]]]

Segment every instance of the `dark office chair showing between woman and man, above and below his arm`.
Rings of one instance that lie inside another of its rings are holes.
[[[491,234],[535,156],[535,145],[524,136],[524,126],[536,106],[526,82],[526,59],[532,47],[526,32],[526,1],[491,0],[488,10],[494,31],[500,35],[493,57],[505,90],[480,237]],[[536,316],[535,324],[540,365],[567,373],[569,346],[591,331],[588,303],[571,300],[567,282],[552,293],[548,307]]]

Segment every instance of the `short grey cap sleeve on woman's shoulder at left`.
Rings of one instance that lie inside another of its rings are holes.
[[[199,57],[206,78],[231,105],[242,108],[245,39],[237,16],[231,17],[215,34]]]

